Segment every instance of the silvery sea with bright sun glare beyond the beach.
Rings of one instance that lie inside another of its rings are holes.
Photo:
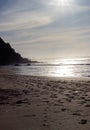
[[[52,59],[30,66],[8,66],[15,74],[66,78],[89,78],[90,58]]]

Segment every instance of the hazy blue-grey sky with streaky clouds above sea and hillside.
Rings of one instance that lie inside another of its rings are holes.
[[[34,60],[90,56],[90,0],[0,0],[0,37]]]

